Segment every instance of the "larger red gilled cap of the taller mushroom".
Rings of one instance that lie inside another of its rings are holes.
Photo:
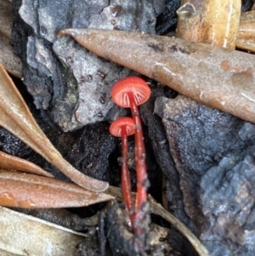
[[[113,85],[111,99],[116,105],[130,107],[128,92],[133,93],[136,105],[141,105],[150,98],[150,87],[142,78],[126,77]]]

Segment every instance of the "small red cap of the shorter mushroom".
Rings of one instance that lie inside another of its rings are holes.
[[[134,122],[131,117],[120,117],[110,125],[110,134],[116,137],[122,137],[122,128],[126,129],[127,136],[134,134]]]

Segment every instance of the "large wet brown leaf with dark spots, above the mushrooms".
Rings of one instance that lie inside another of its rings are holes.
[[[255,122],[255,56],[180,38],[127,31],[65,29],[94,54],[180,94]],[[127,51],[128,48],[128,51]]]

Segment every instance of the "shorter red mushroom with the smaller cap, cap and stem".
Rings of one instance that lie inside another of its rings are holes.
[[[127,136],[134,134],[133,119],[130,117],[121,117],[112,122],[109,129],[111,135],[122,137],[122,193],[129,217],[131,219],[131,223],[133,223],[134,205],[132,200],[130,177],[127,167]]]

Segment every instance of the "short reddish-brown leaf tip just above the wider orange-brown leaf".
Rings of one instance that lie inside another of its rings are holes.
[[[46,176],[49,178],[54,178],[52,174],[44,171],[42,168],[38,167],[36,164],[29,162],[17,156],[11,156],[3,151],[0,151],[0,168],[12,169],[16,171],[22,171],[30,174],[37,174]]]

